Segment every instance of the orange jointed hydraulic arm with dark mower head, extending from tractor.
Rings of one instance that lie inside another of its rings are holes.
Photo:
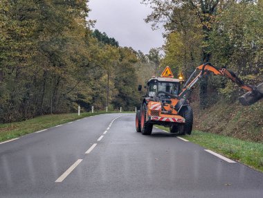
[[[200,73],[194,78],[194,80],[190,82],[197,70],[200,70]],[[190,78],[188,78],[188,80],[183,85],[183,91],[179,94],[178,99],[183,99],[185,101],[190,96],[190,93],[192,92],[191,88],[194,86],[194,84],[196,84],[197,81],[208,72],[212,72],[215,75],[224,75],[226,76],[226,78],[232,80],[232,82],[235,82],[239,87],[248,91],[243,96],[239,97],[239,102],[242,105],[252,105],[253,103],[257,102],[257,100],[263,98],[263,83],[259,84],[257,87],[245,84],[237,77],[237,75],[235,75],[235,73],[233,73],[233,71],[228,71],[224,67],[221,69],[217,69],[215,66],[212,66],[212,64],[208,62],[205,64],[201,64],[197,67],[197,69],[194,70],[194,72],[190,75]]]

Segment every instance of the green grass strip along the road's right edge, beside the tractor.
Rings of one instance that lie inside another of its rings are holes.
[[[165,127],[158,127],[168,131]],[[192,132],[191,136],[181,137],[263,172],[262,143],[199,131]]]

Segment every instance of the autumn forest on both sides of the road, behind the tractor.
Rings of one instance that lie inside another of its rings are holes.
[[[44,114],[140,104],[138,84],[165,66],[188,78],[203,62],[226,66],[248,84],[262,82],[263,1],[142,0],[145,19],[164,28],[162,49],[119,46],[94,30],[89,1],[1,0],[0,123]],[[160,50],[164,52],[161,55]],[[209,75],[192,100],[206,109],[242,93]]]

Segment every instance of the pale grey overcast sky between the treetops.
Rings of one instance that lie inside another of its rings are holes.
[[[161,30],[152,30],[145,24],[150,8],[140,0],[90,0],[89,19],[96,19],[95,28],[114,37],[120,46],[131,46],[148,53],[150,48],[161,47]]]

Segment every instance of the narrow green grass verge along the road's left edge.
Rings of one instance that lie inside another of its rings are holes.
[[[118,113],[117,111],[109,111],[108,114]],[[129,112],[123,112],[129,113]],[[78,114],[53,114],[46,116],[39,116],[33,119],[17,122],[17,123],[6,123],[0,124],[0,142],[8,141],[12,138],[17,138],[25,134],[30,134],[37,132],[42,129],[47,129],[49,127],[54,127],[55,125],[61,125],[64,123],[69,123],[73,120],[78,120],[80,118],[95,116],[98,114],[106,114],[105,111],[99,111],[95,113],[82,113],[80,116]]]

